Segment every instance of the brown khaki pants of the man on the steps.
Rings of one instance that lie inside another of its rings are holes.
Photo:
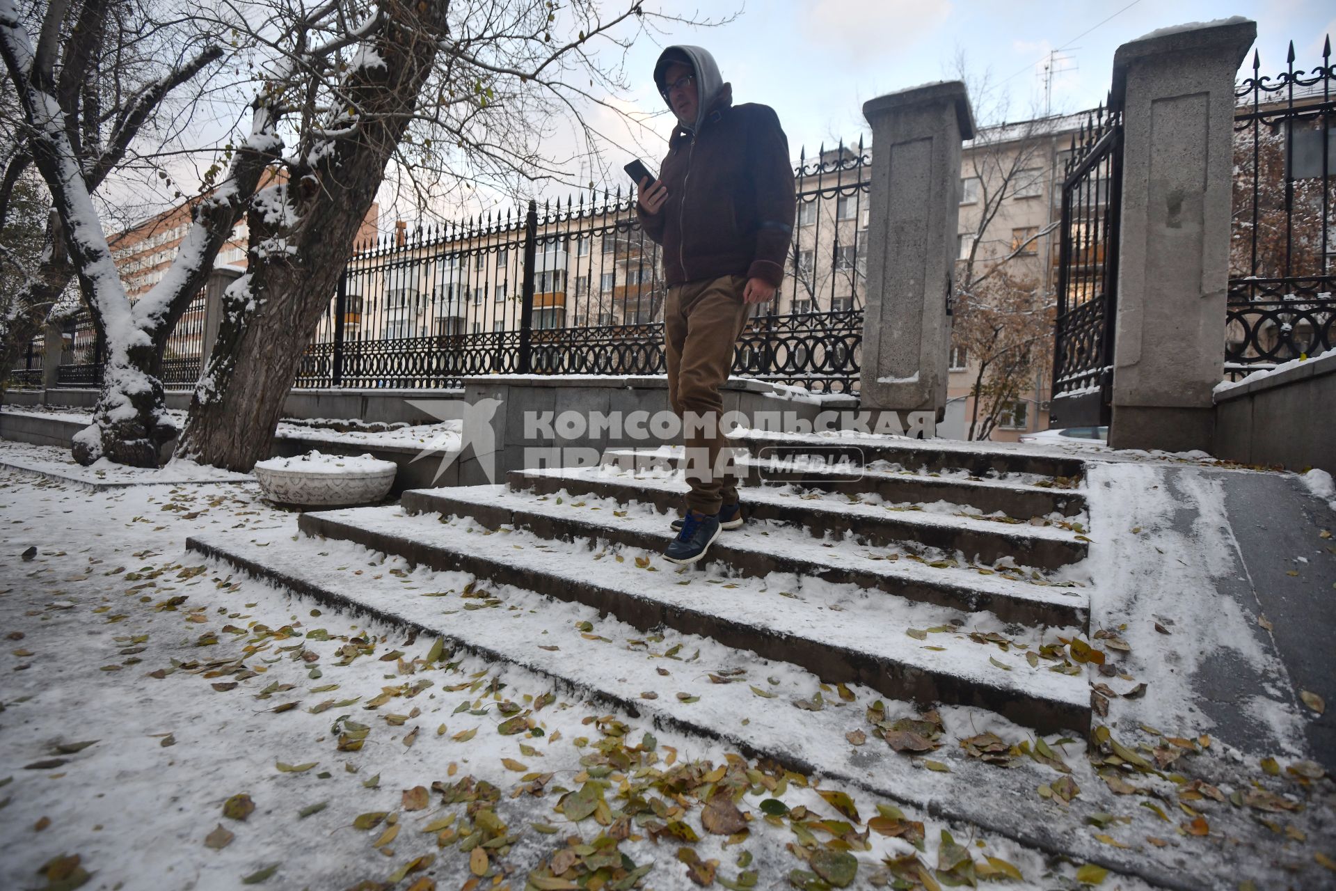
[[[687,508],[707,514],[737,502],[736,477],[719,466],[727,442],[719,387],[728,379],[733,345],[747,323],[745,286],[745,275],[687,282],[669,287],[664,302],[668,402],[685,433]]]

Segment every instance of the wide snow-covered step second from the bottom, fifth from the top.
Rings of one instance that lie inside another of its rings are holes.
[[[1001,652],[925,627],[970,622],[953,610],[896,601],[882,592],[794,577],[711,581],[657,554],[592,552],[584,541],[484,529],[468,518],[362,508],[303,514],[302,532],[398,554],[414,565],[462,570],[593,606],[640,629],[711,637],[764,659],[788,661],[828,683],[859,683],[921,703],[987,708],[1043,732],[1090,725],[1085,677],[1031,667],[1039,637]],[[490,534],[489,534],[490,533]],[[621,560],[617,560],[617,557]],[[788,584],[791,588],[780,588]],[[796,590],[795,590],[796,589]],[[910,631],[916,631],[911,636]]]

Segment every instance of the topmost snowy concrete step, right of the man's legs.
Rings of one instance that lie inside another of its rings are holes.
[[[985,478],[1005,480],[1010,476],[1033,474],[1050,481],[1067,481],[1059,485],[1070,485],[1070,481],[1085,474],[1085,462],[1079,458],[1025,448],[997,449],[989,448],[991,443],[979,442],[874,437],[850,431],[802,434],[760,430],[740,431],[729,439],[732,445],[743,446],[760,458],[844,452],[860,464],[888,461],[911,472],[967,470]]]

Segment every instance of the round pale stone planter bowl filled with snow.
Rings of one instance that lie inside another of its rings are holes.
[[[270,501],[303,508],[365,505],[385,498],[398,466],[370,454],[310,452],[255,465],[255,480]]]

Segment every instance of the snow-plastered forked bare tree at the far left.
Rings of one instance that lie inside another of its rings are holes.
[[[73,273],[107,346],[94,423],[75,437],[73,453],[81,462],[107,456],[156,466],[160,446],[175,435],[154,370],[172,326],[231,232],[242,200],[254,191],[265,155],[235,155],[224,182],[195,206],[195,226],[170,274],[134,305],[120,282],[94,192],[124,162],[167,96],[223,55],[212,32],[147,3],[49,0],[20,13],[13,0],[0,0],[0,56],[21,112],[23,147],[9,167],[32,164],[41,174],[68,248],[67,267],[57,262],[60,252],[52,251],[44,263],[47,274],[33,277],[20,294],[16,318],[31,323],[33,310],[64,290],[61,279]],[[160,57],[168,61],[156,61]],[[107,106],[108,98],[115,104]]]

